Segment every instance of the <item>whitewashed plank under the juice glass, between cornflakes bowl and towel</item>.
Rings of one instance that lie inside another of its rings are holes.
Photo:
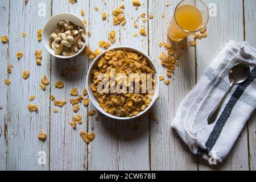
[[[162,52],[167,52],[160,42],[170,42],[167,37],[167,27],[174,14],[174,9],[179,1],[172,1],[166,7],[165,3],[150,0],[148,3],[148,13],[154,15],[154,19],[149,20],[149,52],[152,60],[155,61],[161,76],[166,79],[166,68],[163,68],[158,57]],[[165,18],[162,18],[162,15]],[[189,38],[190,39],[190,38]],[[181,52],[175,43],[176,52]],[[152,170],[197,170],[196,157],[191,154],[188,147],[177,137],[171,129],[170,122],[175,116],[181,101],[195,86],[195,49],[189,48],[182,51],[183,55],[179,59],[180,67],[177,67],[171,83],[166,86],[160,82],[159,100],[154,106],[154,113],[158,116],[158,121],[151,119],[150,142],[151,142],[151,169]]]

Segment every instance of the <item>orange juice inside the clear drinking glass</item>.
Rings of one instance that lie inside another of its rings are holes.
[[[197,7],[182,5],[177,7],[168,27],[168,36],[172,40],[182,40],[203,26],[203,15]]]

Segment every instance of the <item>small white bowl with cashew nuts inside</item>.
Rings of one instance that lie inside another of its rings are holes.
[[[52,56],[69,59],[79,55],[86,44],[86,27],[70,13],[60,13],[48,19],[42,32],[44,47]]]

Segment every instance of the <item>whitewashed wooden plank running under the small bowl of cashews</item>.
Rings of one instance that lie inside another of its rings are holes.
[[[89,1],[77,1],[75,4],[68,1],[52,1],[52,14],[69,12],[81,17],[80,10],[85,10],[85,18],[89,18]],[[81,17],[84,18],[84,17]],[[69,102],[70,90],[77,88],[79,94],[85,88],[85,76],[87,59],[84,55],[79,55],[74,59],[61,60],[52,56],[51,61],[51,94],[56,100],[67,100],[63,108],[56,107],[51,103],[51,170],[85,170],[87,168],[86,144],[80,137],[79,131],[86,131],[87,108],[80,104],[80,111],[73,112],[73,107]],[[78,71],[73,71],[76,66]],[[69,69],[67,76],[61,76],[64,68]],[[64,88],[57,89],[54,86],[56,81],[63,81]],[[57,108],[59,113],[53,113],[53,108]],[[82,125],[77,125],[73,130],[69,125],[72,117],[76,114],[82,115]]]

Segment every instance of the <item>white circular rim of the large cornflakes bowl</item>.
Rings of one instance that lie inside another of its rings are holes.
[[[152,69],[154,69],[154,71],[156,72],[156,87],[155,87],[153,99],[151,100],[150,105],[148,105],[148,106],[146,107],[146,109],[144,109],[144,110],[141,111],[138,115],[133,116],[133,117],[118,117],[118,116],[116,116],[116,115],[112,115],[112,114],[110,114],[110,113],[107,113],[106,111],[104,111],[104,110],[102,109],[102,107],[100,107],[100,106],[98,105],[98,102],[97,102],[97,103],[94,102],[93,98],[94,98],[95,100],[96,100],[96,98],[93,96],[93,94],[91,94],[92,91],[90,90],[90,87],[89,87],[89,82],[90,82],[90,81],[89,81],[89,75],[90,75],[90,72],[92,72],[92,69],[95,67],[95,64],[97,63],[97,61],[98,61],[102,56],[104,56],[107,51],[112,51],[112,50],[114,50],[114,49],[126,49],[126,48],[127,48],[127,49],[132,49],[132,50],[134,50],[134,52],[141,53],[141,55],[145,56],[146,59],[147,59],[147,61],[150,62],[150,64],[152,65]],[[100,55],[98,55],[98,56],[92,61],[92,63],[90,64],[90,67],[89,67],[88,72],[87,72],[87,74],[86,74],[86,82],[85,82],[85,87],[86,87],[86,89],[88,90],[88,97],[89,97],[90,101],[92,102],[93,106],[96,107],[96,109],[97,109],[98,111],[100,111],[100,113],[104,114],[105,116],[107,116],[107,117],[109,117],[109,118],[112,118],[112,119],[118,119],[118,120],[130,120],[130,119],[135,119],[135,118],[140,117],[140,116],[143,115],[144,113],[146,113],[146,112],[152,107],[152,105],[154,105],[154,103],[155,103],[155,101],[156,101],[156,99],[157,99],[157,97],[158,97],[158,94],[159,94],[159,86],[160,86],[160,80],[159,80],[159,77],[158,77],[158,69],[156,69],[154,62],[150,59],[150,57],[148,57],[148,56],[147,56],[143,51],[141,51],[140,49],[134,48],[134,47],[129,47],[129,46],[117,46],[117,47],[112,47],[112,48],[109,48],[109,49],[103,51],[102,53],[100,53]]]

